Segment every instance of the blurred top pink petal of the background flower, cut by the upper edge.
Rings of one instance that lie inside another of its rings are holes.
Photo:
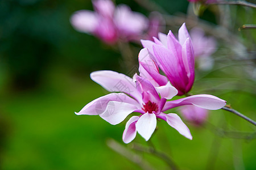
[[[93,0],[93,6],[95,11],[98,12],[98,14],[112,18],[115,10],[115,5],[110,0]]]

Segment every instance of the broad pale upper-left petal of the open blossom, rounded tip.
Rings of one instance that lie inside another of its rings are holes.
[[[124,92],[142,103],[142,96],[137,91],[135,82],[129,76],[104,70],[91,73],[90,78],[110,92]]]

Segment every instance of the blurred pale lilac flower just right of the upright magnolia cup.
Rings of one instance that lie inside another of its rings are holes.
[[[216,40],[213,37],[205,36],[205,32],[201,28],[193,28],[189,33],[199,69],[212,69],[214,60],[210,56],[216,51]]]

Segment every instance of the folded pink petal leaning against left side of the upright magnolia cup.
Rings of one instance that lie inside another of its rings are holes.
[[[146,48],[139,52],[139,73],[140,76],[149,80],[153,86],[163,86],[168,82],[166,76],[159,73],[158,66],[151,59],[151,54]]]

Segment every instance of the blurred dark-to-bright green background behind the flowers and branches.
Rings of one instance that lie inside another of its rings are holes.
[[[150,14],[135,1],[115,3]],[[185,0],[155,3],[168,14],[180,16],[187,14],[189,6]],[[140,169],[109,148],[109,139],[139,154],[154,168],[166,168],[162,160],[134,151],[122,142],[126,121],[113,126],[98,116],[75,115],[85,104],[108,94],[90,80],[92,71],[129,73],[132,69],[125,66],[115,46],[73,29],[69,18],[81,9],[93,10],[92,2],[0,1],[0,168]],[[256,11],[241,6],[230,6],[229,10],[228,30],[240,40],[243,50],[217,38],[214,68],[197,71],[192,93],[216,95],[256,120],[256,30],[237,30],[242,24],[255,24]],[[220,11],[212,6],[200,19],[219,24]],[[177,32],[179,27],[167,25],[164,32]],[[142,46],[130,45],[136,61]],[[175,109],[171,112],[179,113]],[[158,149],[171,155],[180,169],[256,168],[255,126],[222,110],[210,111],[203,126],[186,124],[192,141],[164,121],[158,122],[157,133],[152,137]],[[147,146],[139,134],[134,142]]]

